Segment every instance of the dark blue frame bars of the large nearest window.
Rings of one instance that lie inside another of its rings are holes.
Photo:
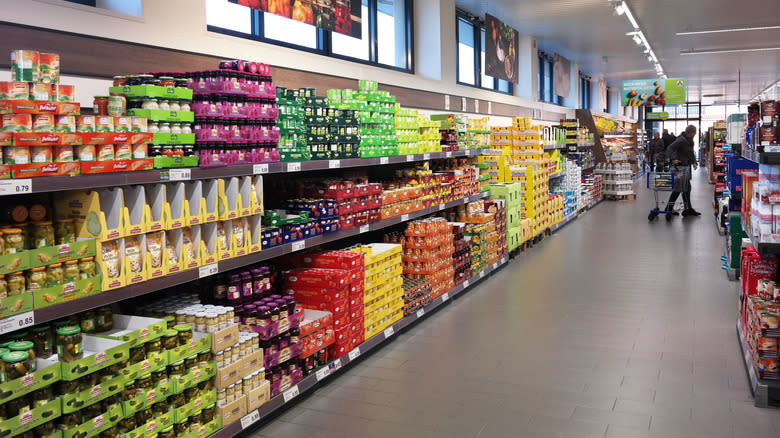
[[[378,14],[378,0],[368,0],[368,16],[363,19],[368,20],[368,60],[360,59],[348,55],[337,54],[333,52],[333,38],[332,31],[324,30],[315,27],[317,35],[316,48],[310,48],[306,46],[300,46],[286,41],[276,40],[265,36],[265,24],[263,20],[263,14],[266,12],[250,9],[251,30],[249,34],[238,32],[231,29],[225,29],[219,26],[206,25],[208,32],[220,33],[238,38],[244,38],[260,43],[273,44],[275,46],[284,47],[287,49],[300,50],[303,52],[313,53],[317,55],[327,56],[329,58],[340,59],[343,61],[356,62],[358,64],[370,65],[373,67],[381,67],[389,70],[398,71],[401,73],[414,74],[414,0],[397,0],[404,2],[404,21],[406,23],[406,47],[401,50],[405,51],[405,58],[407,67],[397,67],[395,65],[382,64],[378,61],[378,46],[379,40],[377,35],[377,14]],[[362,1],[361,1],[362,7]],[[365,37],[365,35],[363,36]],[[398,49],[396,49],[398,50]]]

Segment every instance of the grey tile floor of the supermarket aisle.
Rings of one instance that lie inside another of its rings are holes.
[[[257,431],[256,437],[770,437],[720,270],[712,186],[695,219],[603,202]]]

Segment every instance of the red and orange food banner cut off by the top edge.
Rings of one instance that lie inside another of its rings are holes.
[[[260,12],[278,15],[325,30],[360,38],[361,1],[228,0]]]

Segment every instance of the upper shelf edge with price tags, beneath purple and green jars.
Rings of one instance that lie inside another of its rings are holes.
[[[223,167],[191,167],[185,169],[173,169],[187,175],[176,177],[177,181],[199,180],[211,178],[229,178],[234,176],[275,174],[288,172],[306,172],[312,170],[344,169],[365,166],[381,166],[385,164],[411,163],[417,161],[436,160],[442,158],[468,157],[479,155],[481,150],[472,149],[466,151],[431,152],[427,154],[400,155],[393,157],[375,158],[349,158],[340,160],[312,160],[296,162],[277,162],[265,164],[239,164]],[[171,169],[169,169],[171,170]],[[47,176],[30,179],[9,179],[0,181],[0,196],[13,194],[60,192],[64,190],[83,190],[101,187],[117,187],[133,184],[153,184],[167,182],[172,178],[168,176],[169,170],[143,170],[138,172],[117,172],[95,175],[78,176]],[[29,188],[23,192],[3,190],[8,184],[28,184]]]

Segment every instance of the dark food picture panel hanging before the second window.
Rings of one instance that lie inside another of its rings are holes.
[[[519,41],[516,30],[485,14],[485,74],[516,84]]]

